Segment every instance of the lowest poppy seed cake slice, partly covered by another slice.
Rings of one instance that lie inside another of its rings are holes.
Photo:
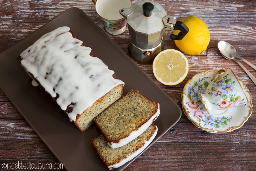
[[[103,160],[109,170],[112,170],[113,168],[124,165],[141,153],[153,141],[157,130],[157,126],[151,124],[143,134],[128,144],[116,149],[112,149],[107,144],[107,140],[102,134],[95,137],[92,140],[92,144],[101,160]]]

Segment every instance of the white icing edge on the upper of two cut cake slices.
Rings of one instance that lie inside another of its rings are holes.
[[[132,131],[129,136],[125,137],[124,139],[121,139],[118,143],[110,143],[108,142],[108,145],[112,148],[112,149],[116,149],[119,148],[123,145],[128,144],[129,142],[131,142],[132,140],[136,139],[139,135],[141,135],[143,132],[145,132],[148,127],[153,123],[153,121],[156,120],[156,118],[159,116],[160,114],[160,108],[159,108],[159,103],[157,103],[158,105],[158,109],[157,112],[146,122],[144,123],[142,126],[139,127],[138,130],[136,131]]]

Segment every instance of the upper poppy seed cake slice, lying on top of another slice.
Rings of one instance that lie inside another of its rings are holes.
[[[94,118],[111,148],[119,148],[142,134],[159,116],[159,104],[131,90]]]

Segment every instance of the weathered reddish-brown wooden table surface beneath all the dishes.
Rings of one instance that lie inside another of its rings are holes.
[[[137,2],[137,0],[132,2]],[[236,48],[241,57],[256,65],[254,59],[256,57],[256,1],[157,0],[157,2],[167,10],[168,15],[175,16],[177,20],[192,15],[203,19],[210,30],[210,44],[201,56],[185,54],[189,61],[189,73],[183,82],[175,86],[165,86],[159,83],[153,75],[152,65],[139,65],[135,62],[136,65],[181,108],[183,87],[195,74],[209,69],[231,68],[248,87],[252,94],[253,106],[256,106],[254,100],[256,86],[252,80],[235,61],[224,59],[217,48],[218,42],[225,40]],[[106,32],[90,0],[0,0],[0,52],[24,39],[71,7],[82,9]],[[170,30],[165,32],[165,49],[179,50],[174,41],[170,40],[171,33]],[[119,36],[107,35],[128,54],[128,28]],[[247,64],[245,67],[256,76],[253,68]],[[125,171],[255,171],[255,114],[253,110],[248,121],[235,131],[208,133],[195,127],[182,112],[179,122],[128,165]],[[18,163],[18,161],[59,163],[1,89],[0,157],[1,166],[3,163]],[[1,166],[0,170],[7,170],[2,169]]]

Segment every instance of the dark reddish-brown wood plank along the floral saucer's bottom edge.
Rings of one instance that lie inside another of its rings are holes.
[[[182,120],[181,120],[182,121]],[[222,143],[254,143],[256,141],[256,131],[253,128],[255,122],[246,122],[244,126],[228,133],[209,134],[202,129],[195,127],[192,123],[179,122],[171,130],[166,132],[159,142],[222,142]],[[228,138],[226,138],[228,137]]]

